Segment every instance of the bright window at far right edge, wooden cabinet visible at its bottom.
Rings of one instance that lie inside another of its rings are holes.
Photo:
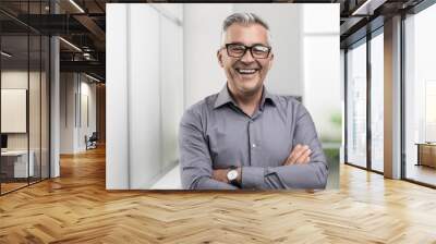
[[[436,5],[404,20],[404,176],[436,185]]]

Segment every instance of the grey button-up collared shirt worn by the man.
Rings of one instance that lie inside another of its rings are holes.
[[[282,166],[296,144],[312,150],[306,164]],[[211,178],[214,169],[242,167],[242,188],[325,188],[327,162],[307,110],[264,87],[258,109],[245,114],[227,85],[189,108],[180,123],[183,188],[233,190]]]

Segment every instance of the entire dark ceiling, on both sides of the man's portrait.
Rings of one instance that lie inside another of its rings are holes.
[[[340,3],[340,36],[341,47],[344,48],[366,35],[366,29],[368,29],[367,24],[370,22],[375,23],[371,25],[372,28],[377,28],[378,25],[383,25],[383,19],[401,11],[407,11],[422,1],[423,0],[278,0],[261,2]],[[87,72],[104,80],[106,59],[106,3],[114,2],[177,1],[1,0],[1,32],[2,35],[5,36],[19,36],[26,34],[27,30],[44,35],[59,35],[63,38],[63,40],[60,41],[61,71]],[[205,2],[205,0],[201,2]],[[226,2],[226,0],[218,0],[215,2]],[[229,0],[227,2],[235,1]],[[55,12],[57,14],[53,14]],[[17,46],[23,45],[23,41],[14,40],[14,38],[19,39],[20,37],[8,37],[7,41],[11,41]]]

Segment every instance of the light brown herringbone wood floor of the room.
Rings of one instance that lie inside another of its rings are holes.
[[[436,191],[341,167],[340,191],[107,192],[105,151],[0,197],[0,243],[436,243]]]

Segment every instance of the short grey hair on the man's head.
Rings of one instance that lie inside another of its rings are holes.
[[[264,26],[267,33],[267,42],[268,45],[271,45],[271,34],[269,33],[269,26],[264,20],[262,20],[254,13],[233,13],[232,15],[228,16],[222,23],[221,46],[225,45],[227,29],[232,24],[242,24],[246,26],[252,24],[259,24]]]

